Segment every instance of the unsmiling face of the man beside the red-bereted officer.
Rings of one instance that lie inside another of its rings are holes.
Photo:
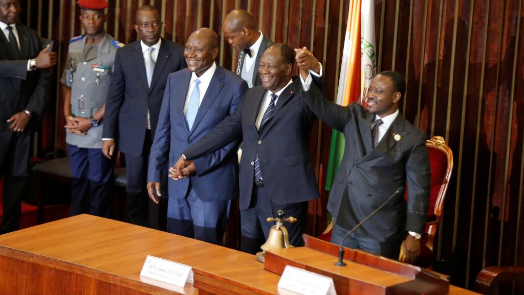
[[[136,16],[135,30],[138,38],[147,46],[153,46],[160,39],[162,22],[158,10],[140,10]]]

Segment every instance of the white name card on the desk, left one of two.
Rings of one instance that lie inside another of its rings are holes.
[[[147,255],[140,277],[154,279],[171,285],[184,287],[186,282],[193,283],[191,266]]]

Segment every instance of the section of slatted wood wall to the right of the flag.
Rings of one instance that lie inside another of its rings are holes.
[[[379,70],[407,73],[403,114],[454,152],[435,248],[465,287],[483,267],[524,263],[522,6],[375,0]]]

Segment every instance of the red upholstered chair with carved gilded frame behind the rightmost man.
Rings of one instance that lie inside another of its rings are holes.
[[[421,240],[420,256],[415,265],[429,267],[433,263],[433,240],[436,229],[442,220],[442,208],[444,207],[444,198],[446,196],[447,185],[451,178],[453,168],[453,153],[444,141],[443,137],[434,136],[426,142],[429,152],[431,165],[431,192],[428,208],[428,217],[426,222],[426,237]],[[404,198],[407,199],[408,192]],[[328,228],[319,236],[319,239],[330,241],[333,221]],[[402,252],[402,251],[401,251]],[[401,253],[402,255],[402,253]]]

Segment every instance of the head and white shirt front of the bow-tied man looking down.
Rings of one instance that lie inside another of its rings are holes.
[[[226,15],[222,32],[230,46],[238,52],[236,74],[247,82],[249,88],[261,85],[258,75],[260,57],[273,41],[256,29],[253,16],[243,9],[234,9]]]

